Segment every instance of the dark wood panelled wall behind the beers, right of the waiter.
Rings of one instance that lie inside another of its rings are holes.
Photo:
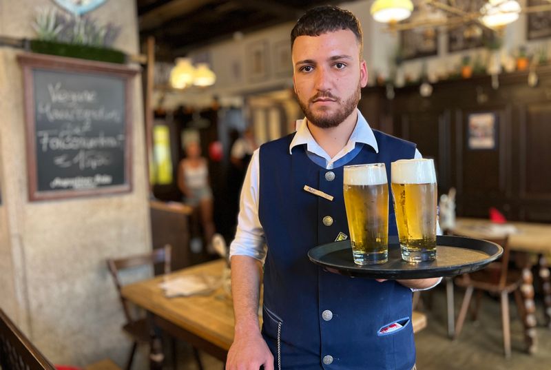
[[[457,189],[459,216],[487,217],[496,207],[509,220],[551,222],[551,67],[528,72],[444,81],[424,98],[419,85],[362,92],[360,109],[374,128],[417,143],[435,159],[439,192]],[[495,148],[468,145],[470,114],[495,114]]]

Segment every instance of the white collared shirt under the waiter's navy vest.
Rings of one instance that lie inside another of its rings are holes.
[[[293,154],[293,147],[306,144],[306,152],[324,158],[326,162],[325,168],[333,169],[333,163],[354,150],[356,143],[369,145],[378,153],[379,147],[377,146],[373,130],[369,127],[369,124],[366,119],[364,119],[364,116],[362,116],[360,110],[356,109],[356,112],[357,122],[349,141],[333,158],[331,158],[315,141],[308,129],[308,125],[306,125],[306,118],[297,121],[297,132],[289,145],[289,154]],[[231,242],[229,247],[229,256],[230,258],[231,256],[249,256],[264,263],[267,245],[264,238],[264,230],[258,218],[258,189],[260,185],[259,150],[260,148],[253,152],[251,163],[245,175],[245,181],[243,181],[236,238]],[[415,158],[422,158],[421,153],[419,153],[417,149],[415,149]],[[441,233],[439,232],[439,234]],[[440,280],[438,282],[440,282]]]

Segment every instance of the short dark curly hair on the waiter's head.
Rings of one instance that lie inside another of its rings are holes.
[[[291,50],[295,39],[299,36],[320,36],[327,32],[351,30],[360,45],[360,55],[364,48],[362,25],[354,14],[337,6],[317,6],[308,10],[291,31]]]

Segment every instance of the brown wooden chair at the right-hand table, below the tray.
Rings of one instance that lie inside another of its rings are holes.
[[[490,263],[486,269],[476,271],[471,274],[464,274],[455,279],[455,284],[466,288],[465,297],[461,303],[461,310],[457,316],[454,339],[459,337],[461,329],[469,309],[472,292],[477,290],[477,300],[475,310],[472,313],[473,320],[476,320],[480,307],[480,298],[483,291],[497,294],[501,300],[501,323],[503,326],[503,350],[505,357],[511,356],[511,337],[510,337],[510,316],[509,316],[509,294],[514,293],[517,309],[521,316],[524,315],[524,307],[521,298],[520,286],[522,283],[521,273],[515,269],[509,269],[510,250],[508,248],[508,238],[489,239],[489,241],[503,247],[503,255],[498,262]]]

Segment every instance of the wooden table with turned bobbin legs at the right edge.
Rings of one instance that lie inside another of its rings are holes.
[[[545,325],[551,329],[551,282],[547,256],[551,254],[551,225],[541,223],[512,222],[517,233],[508,234],[510,250],[521,252],[523,285],[521,293],[524,299],[526,314],[523,317],[525,337],[528,342],[528,351],[533,352],[537,347],[537,337],[534,327],[537,324],[534,304],[534,279],[532,276],[532,258],[529,254],[536,254],[539,263],[539,276],[543,282],[545,304]],[[471,238],[503,237],[503,232],[492,232],[488,228],[490,220],[482,218],[457,218],[453,234],[469,236]]]

